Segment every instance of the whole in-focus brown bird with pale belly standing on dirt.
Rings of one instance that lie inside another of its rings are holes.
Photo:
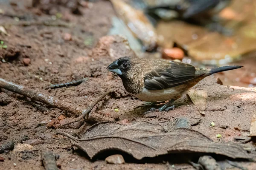
[[[205,77],[241,67],[196,68],[183,62],[124,56],[116,59],[106,69],[122,79],[126,91],[147,102],[144,105],[169,101],[158,109],[151,108],[151,111],[168,111],[174,109],[172,104],[175,100],[187,94],[190,88]]]

